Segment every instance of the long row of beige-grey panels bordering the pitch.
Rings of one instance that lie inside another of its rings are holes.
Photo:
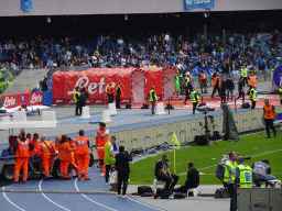
[[[282,106],[275,107],[276,113],[282,112]],[[263,129],[261,116],[263,114],[263,109],[247,110],[242,112],[234,113],[234,119],[239,133]],[[219,131],[220,135],[223,132],[223,115],[214,116],[215,130]],[[203,119],[175,122],[170,124],[161,124],[150,127],[141,127],[128,131],[119,131],[110,133],[110,136],[116,136],[117,145],[123,145],[126,149],[142,148],[161,145],[167,142],[170,145],[172,143],[172,134],[175,134],[180,143],[193,142],[195,135],[204,134],[204,130],[199,126],[199,122],[205,122]],[[213,124],[208,123],[208,130],[214,132]],[[89,137],[90,145],[95,144],[95,136]],[[94,156],[97,158],[97,153],[94,151]]]

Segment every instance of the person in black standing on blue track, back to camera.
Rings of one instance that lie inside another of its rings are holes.
[[[132,157],[129,155],[130,152],[124,152],[124,146],[119,146],[119,154],[116,155],[116,170],[118,171],[118,197],[119,198],[127,198],[127,188],[128,188],[128,178],[129,178],[129,162],[132,162]],[[123,181],[122,187],[122,196],[120,195],[121,191],[121,184]]]

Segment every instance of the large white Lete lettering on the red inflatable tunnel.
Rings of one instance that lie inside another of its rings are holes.
[[[116,87],[116,82],[111,82],[111,84],[112,84],[112,88],[115,88],[115,87]],[[89,85],[89,86],[88,86],[88,85]],[[106,89],[104,89],[104,86],[106,85],[105,78],[101,78],[101,79],[100,79],[100,82],[98,82],[98,85],[99,85],[99,95],[102,95],[104,91],[106,90]],[[89,84],[89,78],[88,78],[88,77],[82,77],[82,78],[79,78],[79,79],[76,81],[75,87],[79,87],[80,89],[88,87],[88,92],[89,92],[90,95],[95,95],[95,93],[97,93],[97,90],[96,90],[96,89],[98,88],[98,85],[97,85],[97,82],[90,82],[90,84]],[[108,85],[107,85],[107,86],[108,86]],[[106,87],[107,87],[107,86],[106,86]],[[73,90],[73,91],[68,91],[68,92],[67,92],[68,96],[72,96],[72,95],[75,93],[75,87],[74,87],[74,90]]]

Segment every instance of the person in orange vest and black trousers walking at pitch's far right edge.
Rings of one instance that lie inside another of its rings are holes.
[[[273,104],[270,104],[269,100],[264,100],[262,119],[265,122],[265,131],[268,133],[267,138],[270,138],[269,127],[273,131],[274,137],[276,136],[276,131],[275,131],[275,127],[273,126],[273,122],[276,120],[276,118],[278,118],[278,115],[276,115],[275,108],[273,107]]]

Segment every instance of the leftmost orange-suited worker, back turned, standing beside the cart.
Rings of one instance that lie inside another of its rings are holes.
[[[19,138],[17,138],[17,142],[13,145],[13,151],[15,152],[14,184],[19,182],[21,168],[23,171],[22,182],[26,182],[29,173],[30,151],[32,151],[33,148],[34,147],[31,142],[25,138],[25,133],[21,132]]]

